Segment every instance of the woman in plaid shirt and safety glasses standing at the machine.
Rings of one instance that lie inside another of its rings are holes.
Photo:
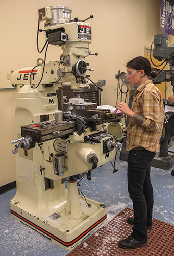
[[[156,72],[142,56],[130,60],[127,79],[132,86],[138,84],[134,93],[132,109],[124,102],[116,108],[130,117],[127,128],[128,191],[133,201],[134,217],[128,218],[133,231],[129,238],[121,240],[121,248],[134,249],[147,245],[147,229],[152,229],[153,187],[150,179],[151,161],[160,148],[164,122],[163,100],[160,91],[152,83]]]

